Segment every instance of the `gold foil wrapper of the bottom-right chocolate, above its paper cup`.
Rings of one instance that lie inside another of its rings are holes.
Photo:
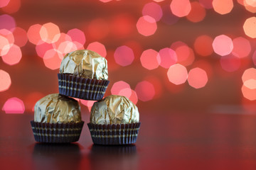
[[[111,95],[93,104],[90,123],[100,125],[139,123],[139,111],[127,97]]]

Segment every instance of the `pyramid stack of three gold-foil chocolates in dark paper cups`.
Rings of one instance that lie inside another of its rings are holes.
[[[41,98],[31,121],[37,142],[76,142],[84,122],[78,101],[97,101],[90,113],[92,142],[99,145],[127,145],[136,142],[139,132],[139,111],[125,96],[103,96],[110,81],[107,60],[97,52],[70,52],[60,64],[59,94]]]

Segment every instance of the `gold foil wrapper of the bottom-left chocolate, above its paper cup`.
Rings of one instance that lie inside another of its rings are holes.
[[[38,123],[79,123],[81,112],[78,101],[60,94],[41,98],[34,108],[34,121]]]

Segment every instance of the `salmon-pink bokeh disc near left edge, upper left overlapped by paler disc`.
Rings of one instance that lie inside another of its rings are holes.
[[[21,48],[17,45],[12,45],[6,55],[2,55],[2,60],[9,65],[18,64],[22,57]]]

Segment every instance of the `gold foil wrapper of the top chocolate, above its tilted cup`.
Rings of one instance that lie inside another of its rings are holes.
[[[107,80],[107,60],[97,52],[90,50],[70,52],[63,57],[60,64],[60,74],[73,74],[86,79]]]

